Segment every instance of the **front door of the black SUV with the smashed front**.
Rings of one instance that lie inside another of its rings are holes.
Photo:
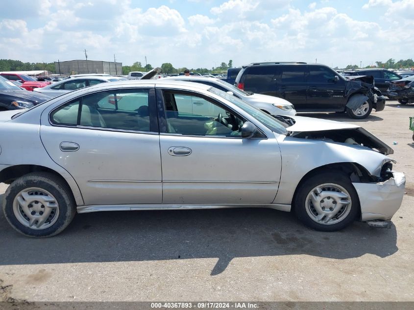
[[[344,111],[345,81],[328,67],[317,65],[307,67],[307,101],[306,107],[301,111]],[[339,80],[335,81],[337,75]]]

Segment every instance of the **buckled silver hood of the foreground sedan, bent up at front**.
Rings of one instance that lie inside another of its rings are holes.
[[[394,150],[364,128],[335,120],[314,119],[291,116],[295,123],[287,127],[293,137],[325,140],[337,143],[357,144],[368,147],[384,155],[393,154]]]

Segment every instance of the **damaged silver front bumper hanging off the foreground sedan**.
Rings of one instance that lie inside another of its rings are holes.
[[[361,205],[361,220],[389,220],[400,208],[405,190],[405,175],[392,172],[392,177],[379,183],[352,183]]]

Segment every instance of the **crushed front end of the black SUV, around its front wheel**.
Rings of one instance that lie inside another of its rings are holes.
[[[385,108],[385,96],[375,87],[374,78],[370,75],[346,76],[345,95],[351,97],[346,106],[356,109],[366,100],[370,100],[375,111]]]

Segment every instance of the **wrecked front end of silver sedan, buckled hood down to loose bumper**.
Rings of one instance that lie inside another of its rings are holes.
[[[392,148],[356,125],[320,120],[323,123],[316,128],[313,121],[301,123],[294,118],[295,124],[287,128],[290,137],[327,143],[331,157],[354,165],[348,175],[359,196],[360,220],[389,228],[405,190],[404,173],[393,171],[395,161],[387,156],[393,154]]]

